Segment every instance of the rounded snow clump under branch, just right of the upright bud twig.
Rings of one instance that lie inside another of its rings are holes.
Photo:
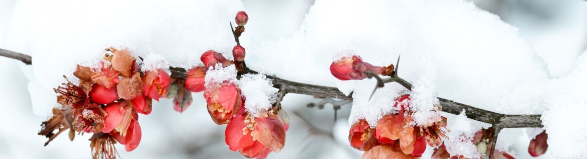
[[[261,111],[269,109],[276,102],[277,89],[265,75],[242,75],[238,87],[242,96],[245,96],[245,109],[253,116],[258,117]]]

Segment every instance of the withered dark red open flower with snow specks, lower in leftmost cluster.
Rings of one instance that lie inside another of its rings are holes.
[[[75,119],[72,124],[75,131],[92,131],[93,133],[102,131],[102,128],[104,128],[104,116],[107,114],[106,111],[102,110],[102,107],[98,104],[90,104],[84,109],[79,109],[79,111],[73,113]]]

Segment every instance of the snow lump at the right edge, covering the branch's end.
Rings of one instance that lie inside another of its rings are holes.
[[[548,151],[561,158],[587,158],[587,52],[569,75],[554,80],[548,110],[542,122],[548,134]],[[581,83],[581,84],[578,84]]]

